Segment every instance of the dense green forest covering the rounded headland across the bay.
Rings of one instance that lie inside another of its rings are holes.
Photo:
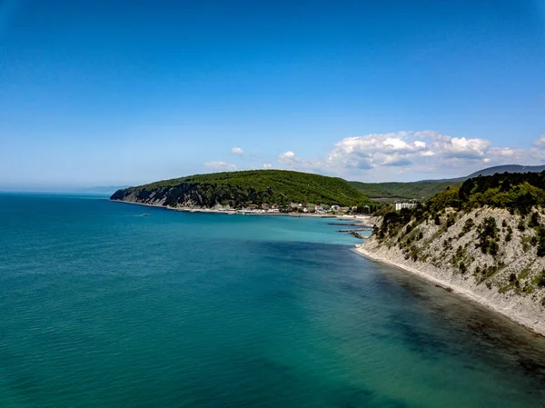
[[[212,207],[215,204],[240,208],[248,204],[295,203],[370,205],[372,201],[336,177],[286,170],[196,174],[119,190],[113,200],[133,194],[140,202],[164,199],[164,205],[183,204]]]

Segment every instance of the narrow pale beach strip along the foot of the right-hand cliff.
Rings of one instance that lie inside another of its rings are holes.
[[[369,259],[369,260],[371,260],[373,262],[378,262],[378,263],[381,263],[381,264],[388,264],[390,266],[394,266],[394,267],[396,267],[398,269],[401,269],[401,270],[403,270],[405,272],[409,272],[410,274],[414,274],[416,276],[419,276],[422,279],[424,279],[425,281],[427,281],[427,282],[429,282],[431,284],[435,284],[435,285],[445,289],[446,291],[451,292],[452,294],[458,294],[458,295],[461,295],[461,296],[466,297],[468,299],[471,299],[471,301],[476,302],[478,304],[481,304],[482,306],[486,307],[487,309],[489,309],[492,312],[500,313],[502,316],[505,316],[508,319],[510,319],[511,322],[519,324],[520,326],[522,326],[525,329],[529,330],[531,333],[534,333],[535,335],[538,335],[540,337],[545,338],[545,329],[543,329],[541,327],[538,327],[535,324],[532,324],[530,322],[529,318],[523,318],[523,317],[521,317],[521,316],[519,316],[519,315],[517,315],[515,313],[510,313],[510,309],[508,309],[507,307],[500,307],[498,304],[494,304],[489,299],[487,299],[487,298],[485,298],[483,296],[480,296],[479,294],[475,294],[471,290],[469,290],[467,288],[464,288],[464,287],[461,287],[460,285],[451,284],[450,282],[441,280],[441,279],[439,279],[439,278],[437,278],[435,276],[431,276],[430,274],[426,274],[424,272],[421,272],[420,270],[418,270],[416,268],[412,268],[411,266],[408,266],[408,265],[405,265],[405,264],[400,264],[400,263],[397,263],[395,261],[392,261],[389,258],[380,256],[380,255],[377,255],[377,254],[373,254],[372,252],[364,249],[362,247],[362,245],[363,244],[356,244],[356,246],[354,248],[354,252],[356,254],[360,254],[363,257],[365,257],[365,258],[367,258],[367,259]]]

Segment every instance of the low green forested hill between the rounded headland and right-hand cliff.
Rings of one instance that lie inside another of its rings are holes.
[[[456,181],[422,181],[412,183],[361,183],[349,182],[352,187],[370,198],[429,198],[448,187],[457,187],[461,182]]]

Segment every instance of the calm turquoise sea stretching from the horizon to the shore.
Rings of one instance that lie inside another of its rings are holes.
[[[0,406],[545,406],[544,339],[330,222],[1,194]]]

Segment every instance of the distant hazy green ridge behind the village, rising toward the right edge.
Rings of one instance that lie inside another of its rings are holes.
[[[421,180],[409,183],[362,183],[349,182],[355,189],[366,194],[372,199],[395,200],[429,198],[448,187],[458,187],[464,181],[480,175],[494,175],[502,173],[541,173],[545,171],[545,165],[520,165],[505,164],[487,167],[464,177],[440,180]]]

